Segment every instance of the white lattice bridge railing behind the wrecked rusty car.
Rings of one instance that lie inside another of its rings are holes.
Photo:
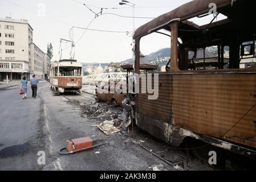
[[[83,77],[83,84],[97,84],[100,81],[106,82],[110,80],[125,80],[127,73],[101,73],[97,75],[88,75]]]

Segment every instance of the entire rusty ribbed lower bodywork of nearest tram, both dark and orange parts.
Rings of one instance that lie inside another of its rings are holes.
[[[160,74],[159,98],[148,100],[147,96],[137,94],[140,121],[172,123],[182,129],[256,147],[256,74]],[[148,128],[144,130],[155,133],[155,127]]]

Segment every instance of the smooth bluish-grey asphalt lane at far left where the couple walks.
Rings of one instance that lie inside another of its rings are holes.
[[[45,86],[42,82],[39,86]],[[19,86],[0,90],[0,169],[38,169],[36,151],[40,99],[19,95]]]

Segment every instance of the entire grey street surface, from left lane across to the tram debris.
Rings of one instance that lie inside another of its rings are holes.
[[[40,82],[36,100],[30,88],[28,99],[22,100],[18,87],[0,90],[0,98],[0,170],[148,170],[155,164],[175,169],[129,142],[127,133],[105,135],[95,126],[100,121],[81,117],[79,105],[67,104],[68,100],[90,104],[90,94],[52,96],[48,82]],[[58,154],[66,139],[85,136],[109,144],[75,155]],[[39,151],[46,153],[45,165],[37,162]],[[212,169],[198,162],[189,165]]]

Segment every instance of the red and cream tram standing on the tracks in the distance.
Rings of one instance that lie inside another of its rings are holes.
[[[51,64],[50,88],[56,93],[82,93],[82,64],[76,60],[60,60]]]

